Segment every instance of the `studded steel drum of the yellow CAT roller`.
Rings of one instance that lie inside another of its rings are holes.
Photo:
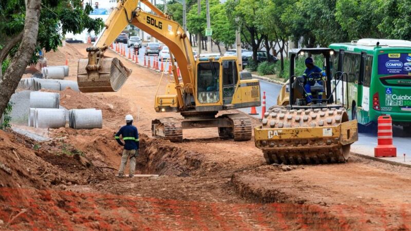
[[[274,107],[264,114],[262,128],[338,126],[348,121],[344,108],[293,109]],[[298,136],[298,132],[296,132]],[[350,144],[327,137],[256,141],[267,164],[327,164],[348,160]]]

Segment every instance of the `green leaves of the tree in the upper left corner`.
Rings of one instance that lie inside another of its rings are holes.
[[[5,45],[13,36],[23,31],[25,20],[25,0],[10,0],[0,2],[0,45]],[[38,46],[36,47],[31,63],[36,63],[36,53],[45,48],[46,51],[56,50],[62,45],[66,33],[81,33],[95,31],[96,34],[103,28],[101,18],[90,18],[92,11],[89,3],[81,0],[43,0],[40,11]],[[12,57],[16,52],[17,44],[9,52]]]

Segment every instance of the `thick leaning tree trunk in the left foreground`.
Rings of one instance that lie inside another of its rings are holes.
[[[41,0],[27,1],[22,42],[0,79],[0,114],[3,114],[33,55],[39,33],[40,4]]]

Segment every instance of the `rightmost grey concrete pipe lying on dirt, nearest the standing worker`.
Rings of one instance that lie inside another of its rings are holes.
[[[103,113],[96,108],[71,109],[69,111],[69,127],[74,129],[93,129],[103,127]]]

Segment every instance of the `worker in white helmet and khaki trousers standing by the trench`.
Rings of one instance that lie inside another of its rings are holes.
[[[118,175],[119,178],[123,178],[125,176],[124,168],[127,164],[128,158],[130,158],[130,171],[128,177],[134,176],[134,171],[136,170],[136,158],[138,156],[139,149],[138,131],[137,128],[133,126],[133,115],[127,114],[125,116],[125,122],[126,125],[122,126],[114,137],[117,143],[124,146]],[[121,142],[120,135],[123,138],[124,143]]]

